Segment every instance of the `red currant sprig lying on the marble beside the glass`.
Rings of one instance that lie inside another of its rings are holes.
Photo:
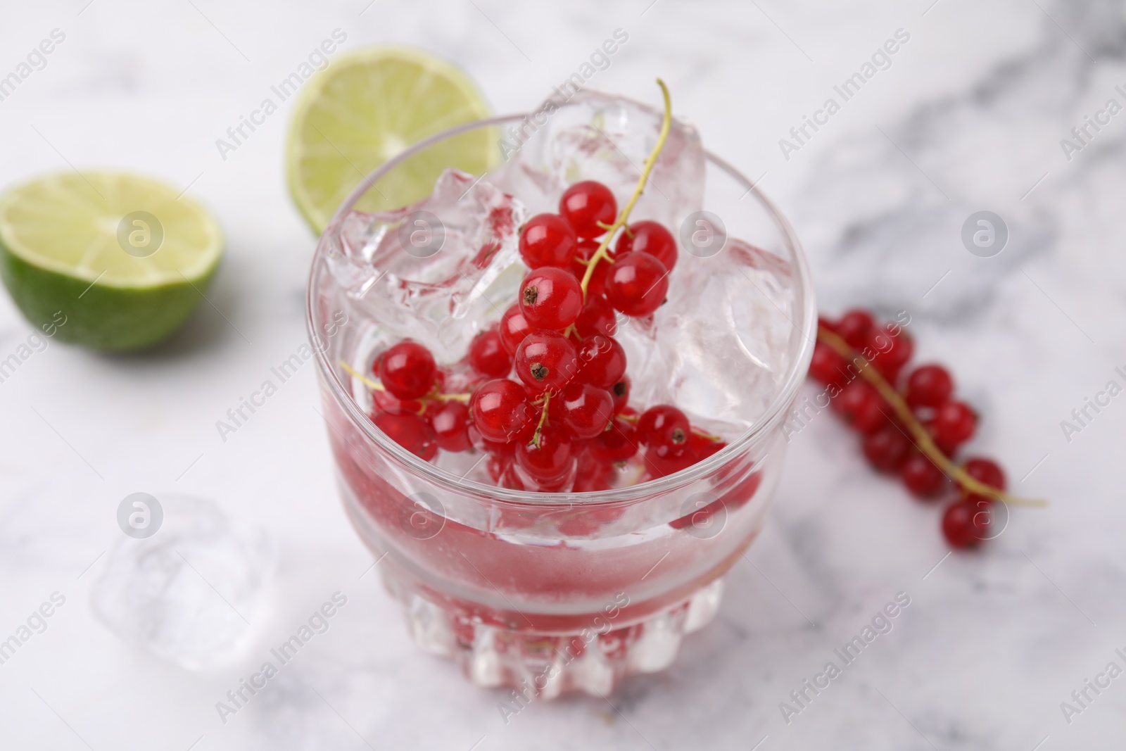
[[[954,547],[974,546],[989,538],[995,499],[967,484],[976,481],[1003,491],[1004,472],[988,458],[968,458],[960,467],[950,462],[973,437],[977,414],[954,399],[954,379],[940,365],[920,365],[901,377],[912,351],[911,338],[899,324],[881,327],[868,311],[852,310],[839,321],[819,321],[810,375],[826,386],[833,410],[864,436],[864,455],[876,470],[897,474],[923,499],[939,497],[954,481],[958,498],[942,516],[942,534]],[[867,367],[864,361],[882,378],[858,377]],[[892,393],[882,394],[872,381],[883,382]],[[895,409],[886,396],[905,408]],[[930,438],[927,445],[913,438],[920,427]]]

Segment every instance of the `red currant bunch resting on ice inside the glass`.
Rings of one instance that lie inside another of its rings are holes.
[[[609,188],[583,181],[557,214],[531,217],[520,229],[530,271],[517,302],[450,369],[413,341],[381,354],[369,383],[375,424],[426,461],[439,448],[483,450],[497,483],[544,492],[609,489],[635,456],[645,477],[661,477],[723,448],[676,406],[629,406],[616,312],[656,311],[677,262],[664,226],[626,224],[632,205],[619,216]],[[465,393],[444,393],[455,382]]]

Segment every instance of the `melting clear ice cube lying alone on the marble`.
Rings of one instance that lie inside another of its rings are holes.
[[[272,571],[266,534],[240,529],[213,502],[166,499],[145,539],[123,537],[91,592],[122,640],[189,670],[238,656]]]

